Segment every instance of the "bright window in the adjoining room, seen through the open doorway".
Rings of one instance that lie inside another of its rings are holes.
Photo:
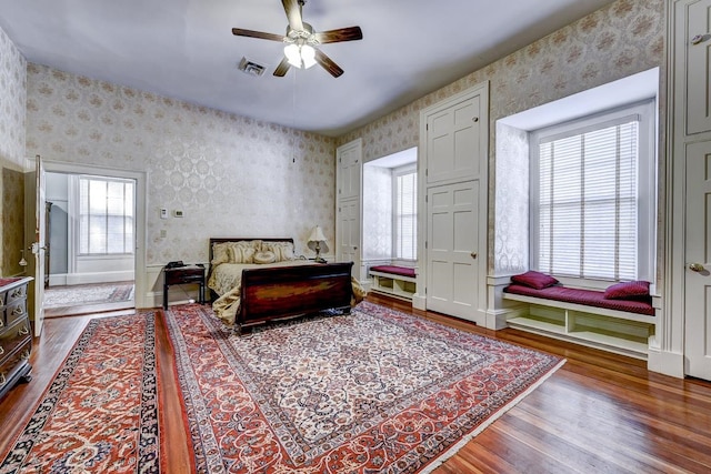
[[[133,253],[133,198],[131,180],[79,179],[79,253]]]

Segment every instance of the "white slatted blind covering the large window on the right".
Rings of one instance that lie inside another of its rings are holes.
[[[637,279],[638,160],[638,117],[540,142],[540,271]]]

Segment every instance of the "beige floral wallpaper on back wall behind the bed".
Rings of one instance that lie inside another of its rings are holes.
[[[33,63],[27,94],[30,155],[148,173],[149,265],[206,262],[210,236],[336,235],[331,138]]]

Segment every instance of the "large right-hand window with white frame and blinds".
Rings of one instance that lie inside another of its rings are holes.
[[[531,140],[531,256],[580,280],[652,280],[653,101]]]

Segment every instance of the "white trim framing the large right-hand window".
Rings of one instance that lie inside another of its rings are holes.
[[[539,268],[538,239],[539,226],[537,222],[539,205],[539,147],[543,140],[552,140],[580,133],[587,129],[598,128],[604,122],[619,120],[623,117],[638,114],[639,122],[639,170],[638,170],[638,279],[650,282],[655,281],[657,262],[657,101],[654,99],[619,107],[605,112],[588,115],[582,119],[547,127],[529,133],[529,150],[531,158],[530,169],[530,249],[531,269]],[[558,276],[557,276],[558,278]],[[605,288],[610,281],[597,281],[591,279],[565,279],[563,283],[578,284],[585,288]]]

